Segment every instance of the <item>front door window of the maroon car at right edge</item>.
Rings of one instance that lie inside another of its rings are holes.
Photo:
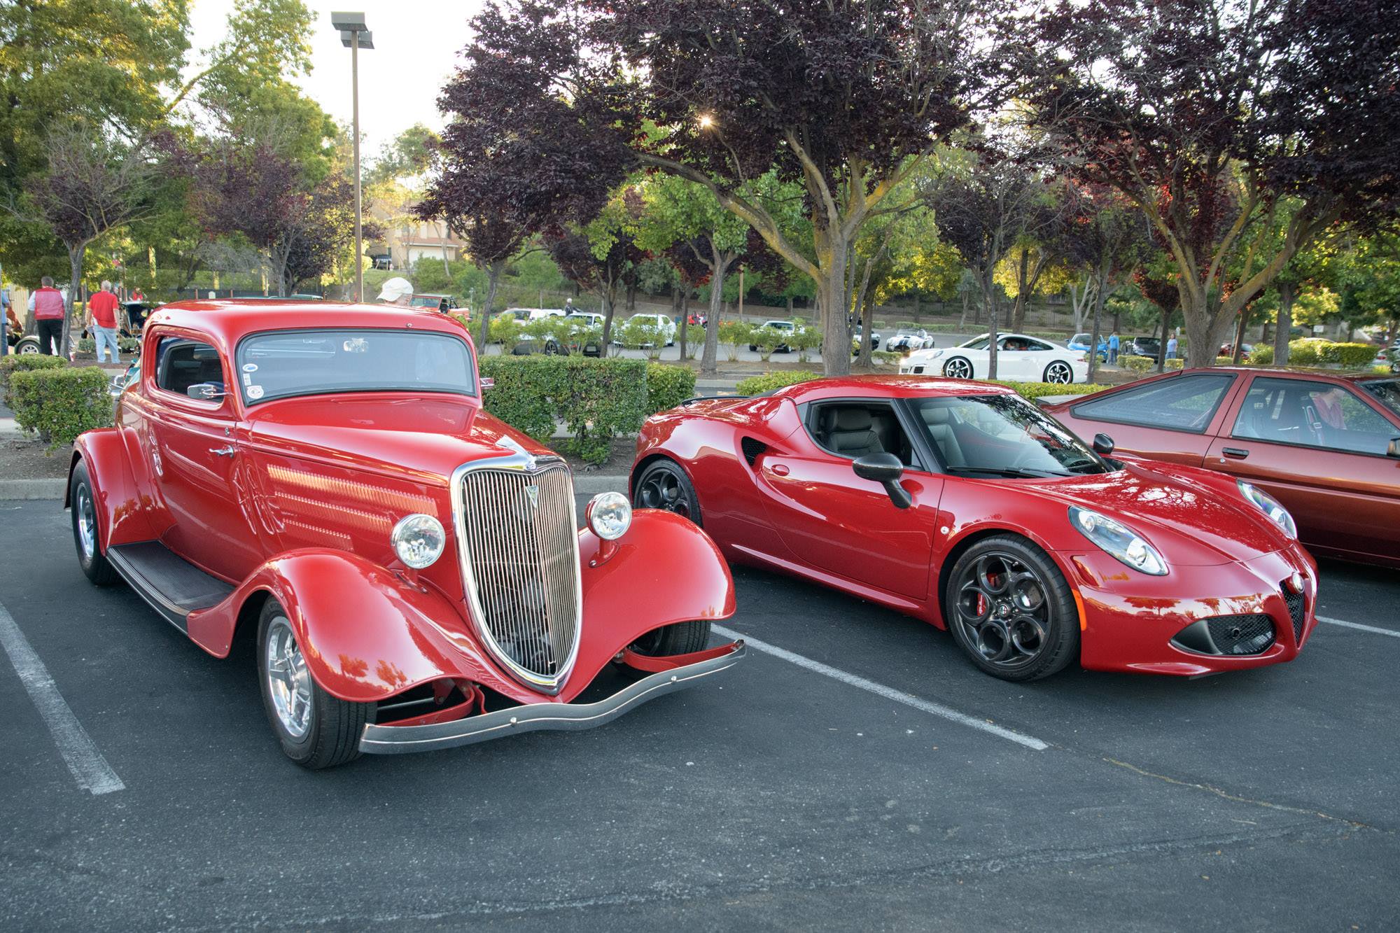
[[[1383,457],[1396,429],[1336,382],[1259,377],[1249,387],[1231,434]]]

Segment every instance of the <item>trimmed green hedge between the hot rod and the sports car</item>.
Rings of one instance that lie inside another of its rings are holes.
[[[613,437],[640,430],[696,388],[687,367],[582,356],[487,356],[482,375],[496,380],[486,410],[546,444],[563,422],[573,434],[567,448],[591,464],[608,459]]]

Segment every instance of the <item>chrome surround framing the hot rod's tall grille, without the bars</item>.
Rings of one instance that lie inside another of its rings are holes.
[[[525,686],[531,689],[540,691],[542,693],[554,695],[559,693],[564,686],[564,681],[568,679],[568,674],[574,670],[574,661],[578,660],[578,644],[582,640],[582,625],[584,625],[584,576],[582,567],[580,566],[578,558],[578,528],[575,523],[570,523],[574,528],[574,534],[570,535],[574,558],[574,639],[568,646],[568,654],[564,661],[559,665],[559,670],[553,677],[542,677],[533,671],[528,671],[519,664],[517,664],[500,646],[496,637],[491,635],[490,625],[486,621],[486,614],[482,609],[482,597],[477,588],[476,574],[472,570],[470,556],[468,555],[468,534],[466,534],[466,503],[462,499],[465,479],[469,472],[494,469],[494,471],[519,471],[528,475],[538,475],[546,469],[563,469],[568,478],[570,490],[570,509],[573,509],[573,489],[574,478],[568,471],[568,465],[564,462],[563,457],[533,457],[524,451],[517,454],[507,454],[504,457],[489,457],[484,459],[476,459],[468,464],[462,464],[452,471],[452,485],[449,495],[452,497],[452,530],[456,535],[456,559],[462,574],[462,587],[466,591],[468,608],[472,615],[472,628],[476,635],[482,639],[482,643],[491,653],[491,656],[505,668],[505,671],[518,679]]]

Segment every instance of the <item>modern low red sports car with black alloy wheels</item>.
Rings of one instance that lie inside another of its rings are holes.
[[[732,562],[949,628],[1005,679],[1296,657],[1317,576],[1287,510],[1112,450],[998,385],[816,380],[654,415],[631,495],[703,524]]]

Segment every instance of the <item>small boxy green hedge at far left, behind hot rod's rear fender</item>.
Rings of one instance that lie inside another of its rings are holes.
[[[67,447],[85,430],[112,424],[106,373],[95,366],[38,368],[10,375],[10,408],[15,423]]]

